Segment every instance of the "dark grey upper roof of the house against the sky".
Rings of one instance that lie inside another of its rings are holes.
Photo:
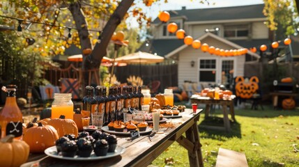
[[[252,19],[266,18],[263,15],[264,4],[250,6],[231,6],[224,8],[199,8],[168,11],[170,17],[185,17],[185,22],[215,21],[226,19]],[[160,20],[156,18],[153,24],[159,24]]]

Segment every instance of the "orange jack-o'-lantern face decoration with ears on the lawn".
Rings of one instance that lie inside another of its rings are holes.
[[[259,90],[259,79],[256,76],[249,80],[244,77],[236,77],[236,96],[243,99],[250,99]]]

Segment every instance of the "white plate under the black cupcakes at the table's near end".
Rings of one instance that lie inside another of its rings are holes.
[[[107,159],[107,158],[116,157],[120,154],[123,154],[123,152],[125,152],[125,148],[118,145],[116,146],[115,152],[108,152],[107,155],[105,156],[96,156],[94,152],[91,152],[90,157],[79,157],[77,155],[75,155],[75,157],[63,157],[61,154],[57,154],[55,145],[45,150],[45,154],[49,155],[49,157],[53,157],[56,159],[67,159],[73,161],[93,161],[98,159]]]

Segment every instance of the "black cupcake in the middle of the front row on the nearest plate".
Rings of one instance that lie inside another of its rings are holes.
[[[86,138],[79,138],[77,141],[79,157],[89,157],[91,156],[91,152],[93,151],[93,145],[91,145],[91,141]]]

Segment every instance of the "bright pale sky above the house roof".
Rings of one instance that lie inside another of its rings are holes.
[[[221,8],[228,6],[246,6],[263,3],[263,0],[208,0],[208,2],[210,3],[208,5],[207,3],[199,3],[199,1],[200,0],[168,0],[168,3],[164,3],[164,0],[160,0],[159,3],[153,3],[153,5],[150,8],[144,8],[144,12],[146,12],[147,15],[151,16],[152,20],[154,20],[156,17],[158,17],[160,11],[181,10],[183,6],[185,6],[186,9]],[[137,6],[144,5],[137,3]]]

